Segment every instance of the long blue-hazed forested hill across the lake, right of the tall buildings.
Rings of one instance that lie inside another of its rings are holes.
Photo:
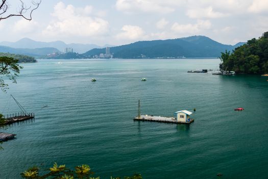
[[[236,46],[216,42],[206,36],[191,36],[185,38],[138,41],[124,46],[110,48],[114,58],[146,58],[157,57],[218,57],[221,52],[235,49]],[[93,56],[105,54],[105,49],[92,49],[84,55]]]

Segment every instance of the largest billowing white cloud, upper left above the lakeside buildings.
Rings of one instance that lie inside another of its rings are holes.
[[[64,3],[59,2],[54,7],[52,14],[56,20],[49,24],[42,33],[48,36],[93,36],[107,33],[108,21],[88,16],[91,12],[91,6],[75,8],[72,5],[65,6]]]

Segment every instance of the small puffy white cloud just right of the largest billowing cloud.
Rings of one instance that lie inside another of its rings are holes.
[[[121,29],[123,32],[116,35],[118,39],[141,39],[144,37],[144,32],[139,26],[125,25]]]

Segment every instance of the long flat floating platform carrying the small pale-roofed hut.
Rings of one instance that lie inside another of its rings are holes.
[[[190,119],[188,122],[177,121],[176,118],[172,117],[160,117],[160,116],[150,116],[150,115],[140,115],[140,117],[135,117],[134,121],[150,121],[150,122],[164,122],[164,123],[175,123],[175,124],[190,124],[194,122],[194,119]]]

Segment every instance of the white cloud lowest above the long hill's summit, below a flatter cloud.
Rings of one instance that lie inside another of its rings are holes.
[[[209,20],[198,20],[197,24],[178,24],[174,23],[171,27],[176,33],[198,33],[201,30],[208,30],[211,28],[211,23]]]

